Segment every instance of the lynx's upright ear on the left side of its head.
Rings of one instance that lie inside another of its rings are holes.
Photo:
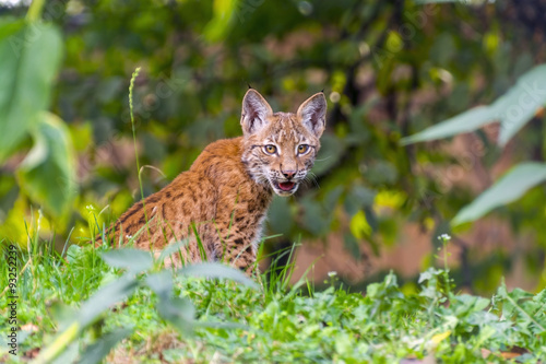
[[[242,98],[242,115],[240,125],[245,136],[253,134],[268,122],[268,116],[273,115],[270,104],[253,89],[247,91]]]

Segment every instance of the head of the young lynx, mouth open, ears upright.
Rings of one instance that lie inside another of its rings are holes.
[[[327,99],[322,92],[296,114],[273,113],[265,98],[250,89],[242,99],[242,162],[260,184],[290,196],[311,169],[324,131]]]

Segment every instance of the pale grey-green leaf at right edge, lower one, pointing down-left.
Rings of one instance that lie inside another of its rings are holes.
[[[515,201],[529,189],[546,180],[546,164],[522,163],[510,169],[495,185],[464,207],[451,225],[476,221],[492,209]]]

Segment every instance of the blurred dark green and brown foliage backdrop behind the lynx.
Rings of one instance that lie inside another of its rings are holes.
[[[538,291],[545,36],[545,0],[0,0],[0,236],[85,244],[140,199],[128,87],[141,67],[145,195],[241,134],[248,84],[285,111],[324,90],[317,183],[275,198],[266,233],[281,236],[264,255],[298,242],[295,279],[312,266],[317,285],[335,271],[360,290],[393,270],[413,290],[449,234],[460,289],[506,277]],[[439,137],[403,139],[458,115]],[[476,200],[522,164],[536,168]],[[470,204],[484,211],[453,223]]]

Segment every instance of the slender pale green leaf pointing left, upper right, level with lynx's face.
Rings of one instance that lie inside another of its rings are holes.
[[[495,121],[495,114],[492,113],[492,109],[489,106],[478,106],[427,128],[416,134],[402,138],[400,142],[402,145],[407,145],[422,141],[448,138],[476,130],[492,121]]]

